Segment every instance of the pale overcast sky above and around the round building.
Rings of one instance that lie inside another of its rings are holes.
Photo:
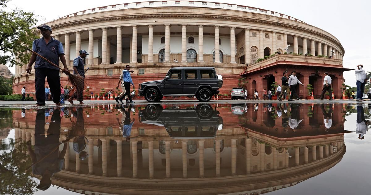
[[[230,0],[208,0],[210,2],[231,3]],[[39,15],[39,24],[58,19],[81,10],[112,4],[140,2],[128,0],[105,1],[25,1],[12,0],[7,9],[19,7]],[[278,1],[278,0],[234,0],[234,4],[258,7],[283,13],[305,23],[319,27],[334,35],[345,49],[343,65],[355,69],[363,64],[365,71],[371,71],[371,39],[369,19],[371,3],[367,0],[312,0],[312,1]],[[44,5],[45,4],[45,5]],[[14,73],[14,68],[10,71]],[[355,87],[354,71],[344,72],[345,84]]]

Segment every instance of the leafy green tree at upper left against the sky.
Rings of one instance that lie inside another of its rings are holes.
[[[37,36],[33,26],[37,19],[32,12],[24,12],[18,8],[5,11],[6,3],[10,0],[0,0],[0,64],[10,66],[20,65],[16,62],[16,56],[21,63],[27,64],[30,54],[23,54],[27,46],[32,46]]]

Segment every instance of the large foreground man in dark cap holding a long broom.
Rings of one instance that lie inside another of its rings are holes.
[[[50,34],[52,29],[48,25],[41,25],[37,27],[40,29],[42,38],[36,39],[33,41],[32,50],[36,53],[39,53],[49,61],[53,62],[56,65],[59,65],[59,59],[62,62],[64,68],[63,73],[69,75],[65,52],[63,50],[63,45],[59,40],[53,39]],[[36,62],[36,63],[35,63]],[[37,105],[45,105],[45,77],[47,77],[47,82],[50,86],[50,92],[53,97],[53,102],[57,106],[62,106],[60,101],[60,77],[59,69],[44,59],[40,58],[35,54],[31,54],[30,61],[27,64],[27,73],[31,74],[32,64],[35,63],[35,91],[36,91],[36,100]]]

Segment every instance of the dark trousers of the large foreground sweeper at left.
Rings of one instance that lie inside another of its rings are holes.
[[[60,77],[59,70],[50,68],[35,68],[35,91],[36,101],[38,105],[45,105],[45,77],[52,93],[54,103],[60,101]]]

